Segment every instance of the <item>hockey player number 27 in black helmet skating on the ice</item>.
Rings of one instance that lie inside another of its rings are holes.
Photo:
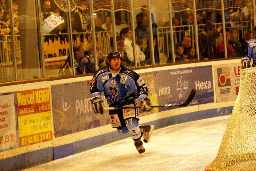
[[[134,107],[138,99],[143,111],[152,110],[144,80],[136,72],[124,67],[121,57],[118,51],[109,52],[109,66],[100,68],[92,77],[90,101],[95,113],[104,112],[100,97],[102,92],[109,107]],[[139,113],[134,108],[109,110],[109,115],[112,127],[117,128],[121,134],[130,133],[138,152],[145,152],[141,137],[143,136],[144,142],[149,142],[154,125],[139,125]]]

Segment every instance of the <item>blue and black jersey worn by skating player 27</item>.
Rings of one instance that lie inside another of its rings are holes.
[[[144,80],[131,69],[120,66],[120,70],[113,74],[109,66],[96,71],[90,83],[92,97],[104,93],[108,104],[125,105],[125,102],[148,96],[148,89]]]

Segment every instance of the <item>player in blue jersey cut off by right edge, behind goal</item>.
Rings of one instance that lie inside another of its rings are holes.
[[[254,35],[256,36],[256,26],[254,27]],[[252,67],[256,66],[256,38],[251,39],[247,45],[247,48],[244,52],[244,57],[241,61],[243,64],[243,68],[250,68],[251,59],[252,59]]]

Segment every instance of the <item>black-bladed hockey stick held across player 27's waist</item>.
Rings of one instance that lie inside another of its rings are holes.
[[[191,100],[195,97],[196,95],[196,90],[192,89],[188,99],[183,102],[183,103],[178,103],[178,104],[166,104],[166,105],[159,105],[159,106],[151,106],[152,108],[172,108],[172,107],[186,107],[189,105]],[[115,110],[115,109],[137,109],[141,108],[141,106],[133,106],[133,107],[109,107],[109,108],[104,108],[104,110]]]

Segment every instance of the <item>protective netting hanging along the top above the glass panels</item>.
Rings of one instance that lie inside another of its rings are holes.
[[[73,11],[76,7],[84,8],[90,6],[90,0],[54,0],[55,4],[63,11]],[[195,10],[193,1],[196,3],[196,10],[215,9],[221,10],[221,0],[171,0],[171,11]],[[110,0],[93,0],[93,10],[134,11],[143,7],[148,10],[156,10],[167,13],[170,11],[168,0],[113,0],[114,9],[111,9]],[[130,3],[132,3],[132,8]],[[150,9],[148,7],[150,4]],[[252,0],[224,0],[224,9],[239,7],[248,8],[252,11]]]

